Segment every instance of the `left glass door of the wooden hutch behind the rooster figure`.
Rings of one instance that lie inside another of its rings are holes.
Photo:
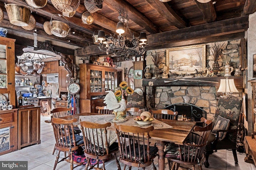
[[[90,93],[102,92],[102,71],[90,70]]]

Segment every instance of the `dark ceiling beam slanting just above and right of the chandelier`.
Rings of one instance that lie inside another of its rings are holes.
[[[124,2],[123,0],[105,0],[103,5],[107,5],[109,8],[113,8],[118,11],[121,9],[128,12],[129,19],[140,25],[143,29],[149,33],[159,33],[160,30],[156,25],[154,25],[148,18],[143,16],[138,10],[133,8],[130,4]]]

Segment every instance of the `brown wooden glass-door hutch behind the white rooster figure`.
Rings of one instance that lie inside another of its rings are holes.
[[[98,113],[96,106],[103,103],[106,91],[117,84],[117,68],[95,64],[79,64],[80,66],[80,113]]]

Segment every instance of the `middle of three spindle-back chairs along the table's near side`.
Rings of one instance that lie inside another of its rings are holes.
[[[88,167],[89,169],[105,170],[105,161],[110,159],[112,155],[116,158],[116,152],[118,152],[118,143],[114,142],[109,145],[110,141],[107,137],[107,127],[110,127],[111,123],[98,124],[80,120],[80,125],[84,137],[84,155],[87,159],[85,170],[88,170]],[[96,164],[92,165],[90,163],[90,159],[97,160],[98,168],[94,167]],[[99,160],[102,160],[103,168],[99,168]],[[121,170],[117,158],[116,164],[118,170]]]

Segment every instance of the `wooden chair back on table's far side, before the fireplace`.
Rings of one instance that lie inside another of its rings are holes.
[[[149,110],[154,118],[158,119],[170,119],[170,120],[177,120],[178,119],[178,112],[174,112],[168,109],[159,109],[159,110]]]

